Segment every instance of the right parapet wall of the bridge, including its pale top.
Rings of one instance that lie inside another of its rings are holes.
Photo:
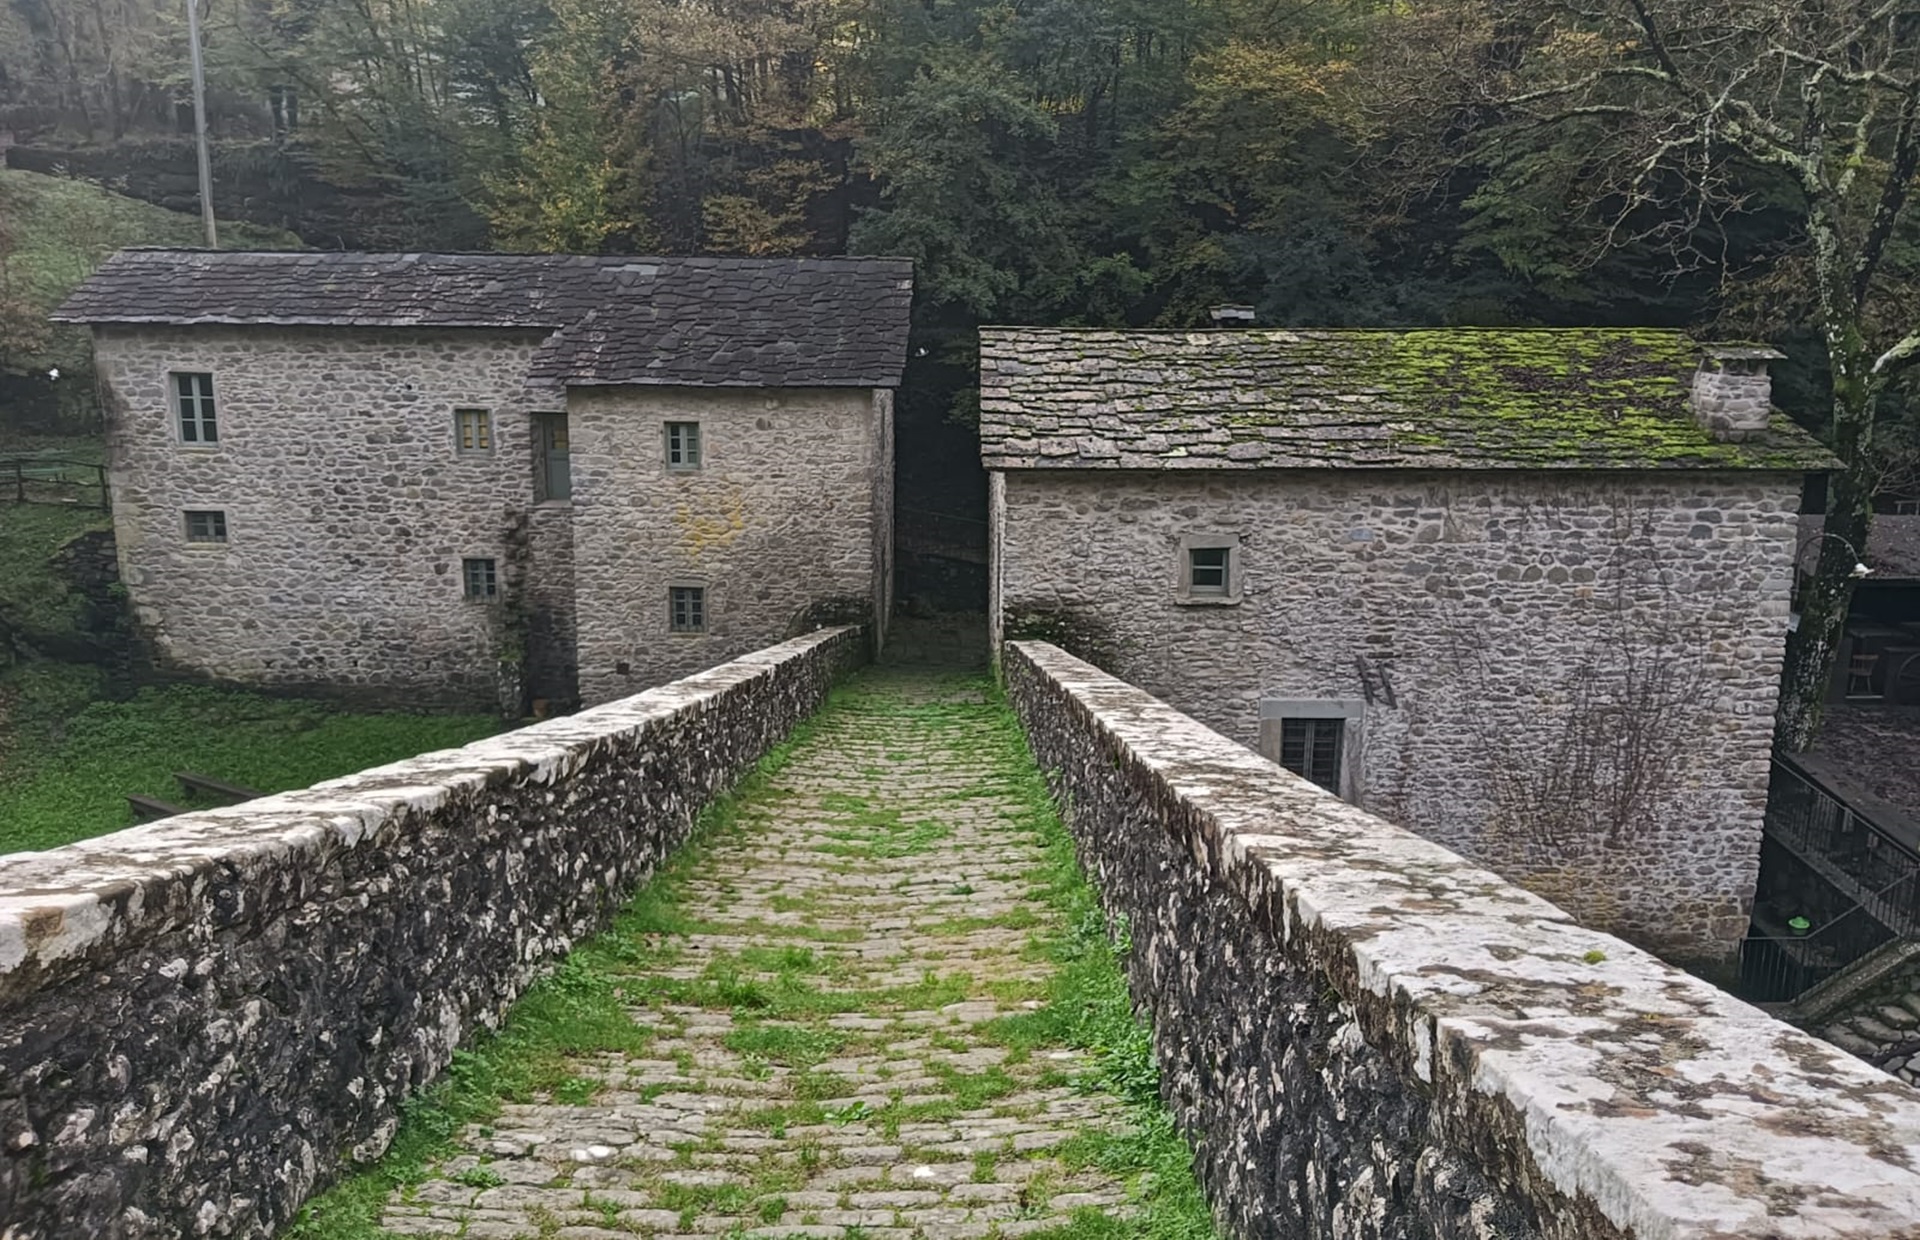
[[[1912,1234],[1920,1092],[1056,647],[1004,668],[1229,1234]]]

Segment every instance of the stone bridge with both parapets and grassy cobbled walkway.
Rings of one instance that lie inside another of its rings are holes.
[[[1920,1236],[1908,1086],[1052,647],[860,649],[0,858],[0,1236],[276,1234],[390,1146],[300,1234],[1177,1234],[1041,770],[1223,1234]],[[401,1129],[449,1061],[505,1104]]]

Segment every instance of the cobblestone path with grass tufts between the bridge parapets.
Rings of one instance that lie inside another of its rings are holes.
[[[643,896],[678,931],[634,935],[622,977],[647,1050],[470,1127],[382,1225],[948,1240],[1127,1213],[1071,1157],[1125,1108],[1031,1035],[1060,929],[1033,787],[981,681],[856,676]]]

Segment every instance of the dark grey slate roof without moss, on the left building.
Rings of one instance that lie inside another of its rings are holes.
[[[545,382],[891,388],[912,280],[908,259],[123,250],[54,321],[532,328]]]

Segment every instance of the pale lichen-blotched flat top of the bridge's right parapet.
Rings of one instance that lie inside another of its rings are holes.
[[[1092,664],[1014,649],[1212,820],[1235,891],[1281,893],[1284,939],[1352,950],[1407,1013],[1409,1046],[1388,1054],[1436,1092],[1505,1100],[1559,1192],[1644,1240],[1920,1234],[1920,1090]]]

